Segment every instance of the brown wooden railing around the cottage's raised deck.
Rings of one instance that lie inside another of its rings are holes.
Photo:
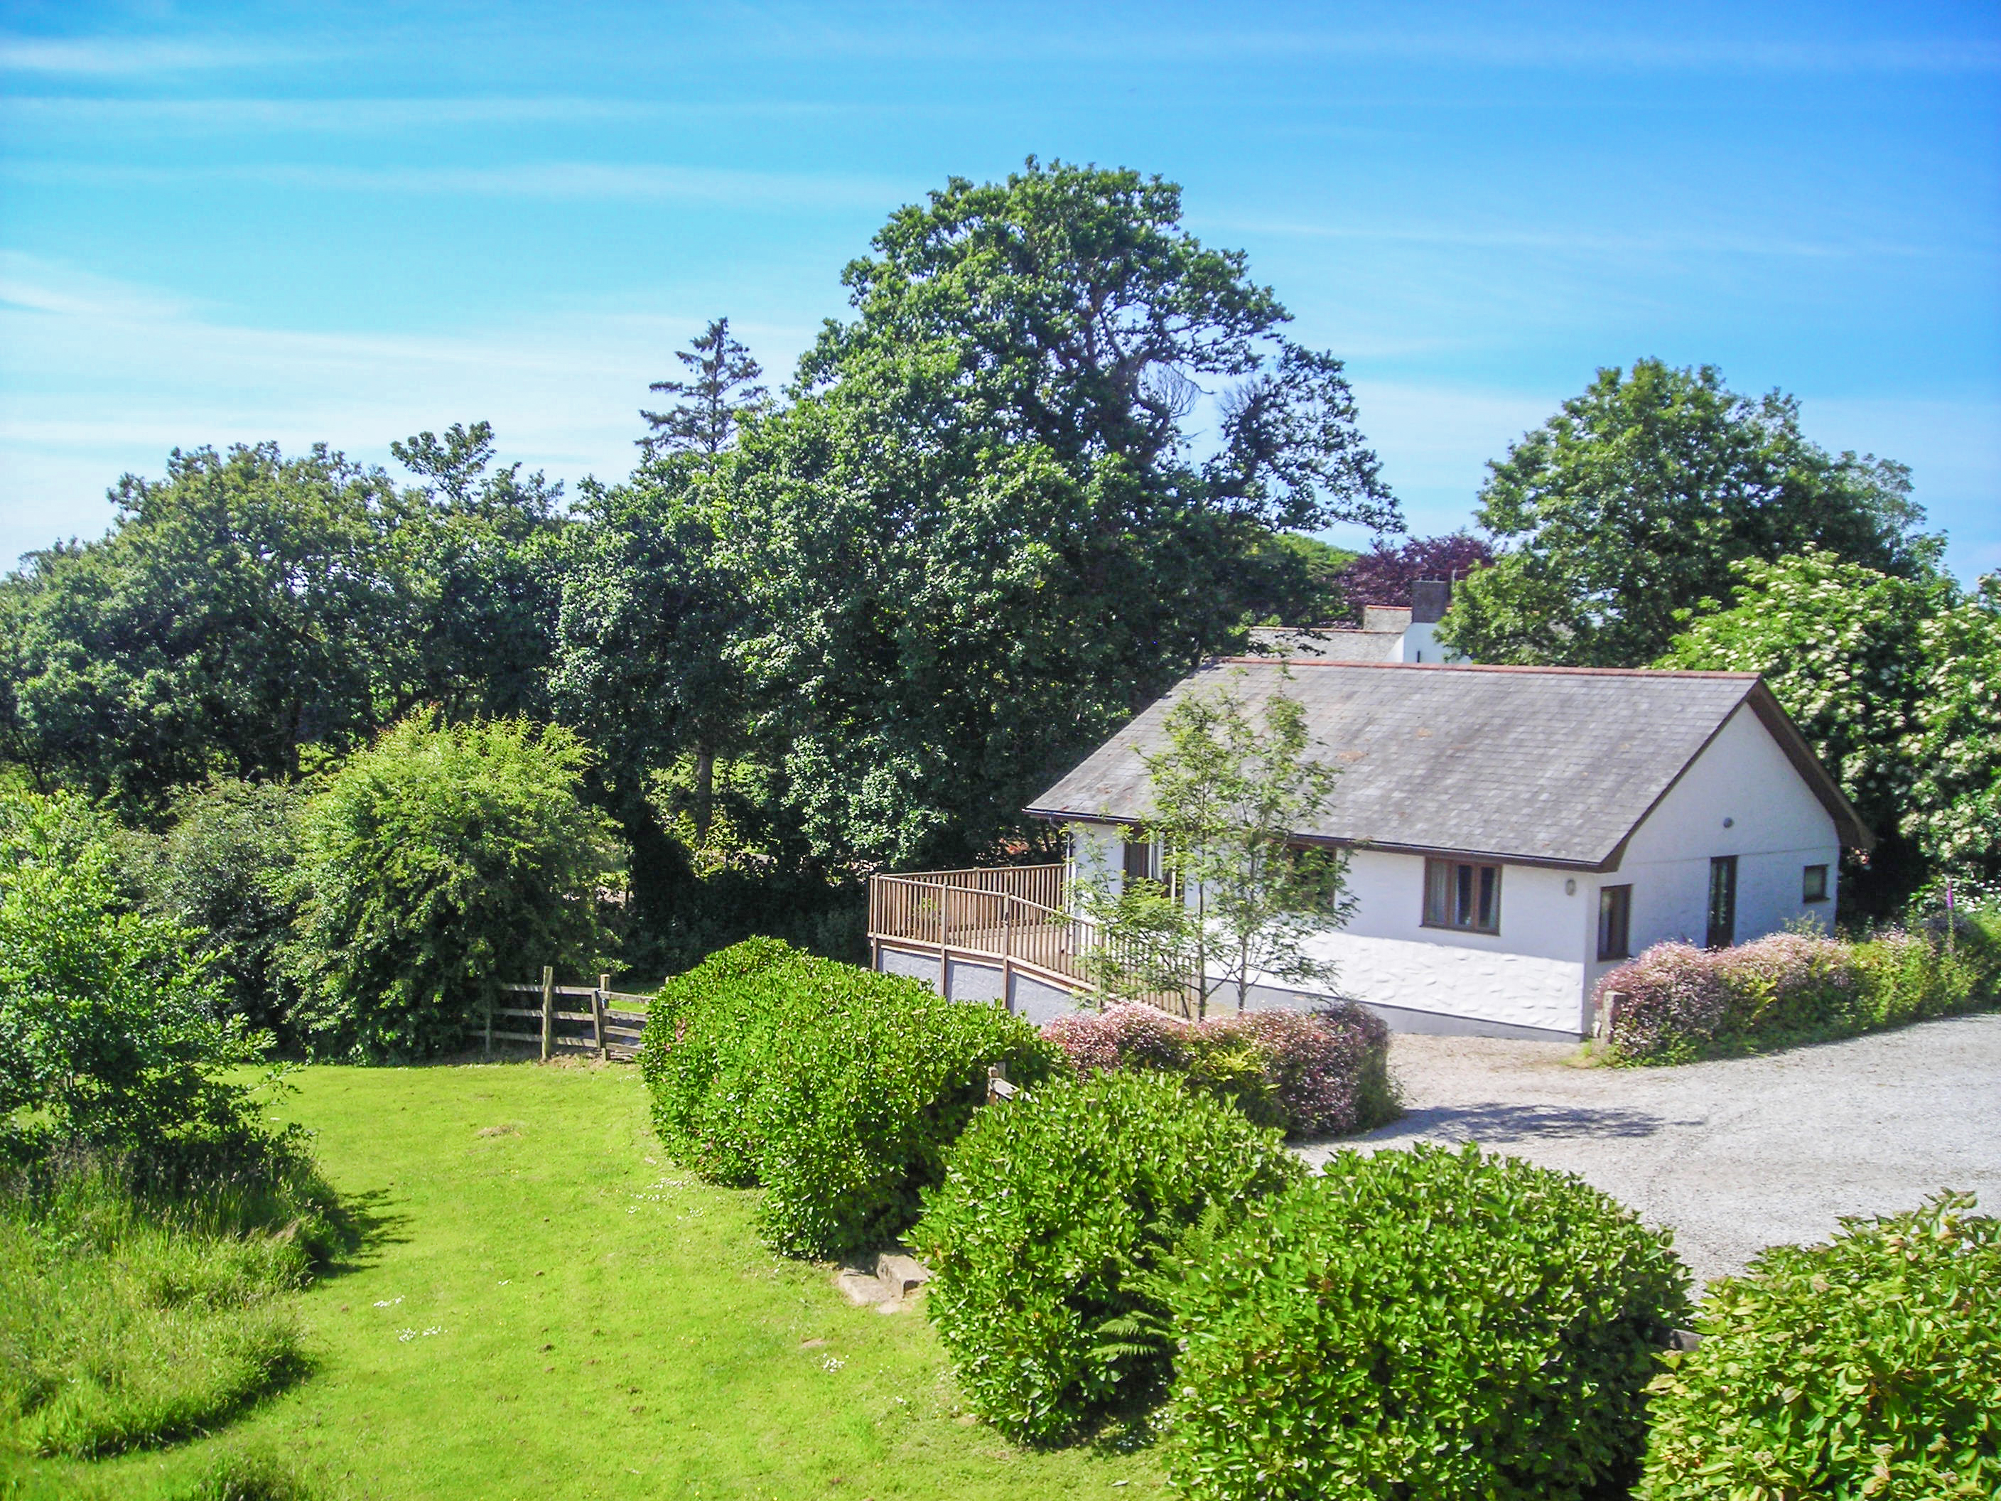
[[[1021,969],[1037,979],[1099,993],[1091,957],[1121,939],[1067,911],[1065,867],[1013,865],[986,871],[922,871],[868,881],[868,947],[936,955],[940,989],[954,957],[1000,961],[1003,993]],[[1141,997],[1189,1015],[1181,991]]]

